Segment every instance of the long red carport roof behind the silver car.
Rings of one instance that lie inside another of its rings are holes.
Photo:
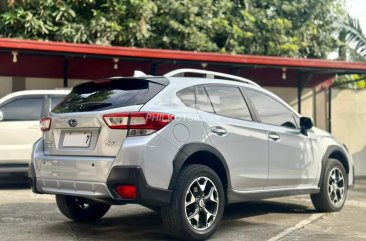
[[[13,51],[17,53],[14,63]],[[329,85],[335,74],[366,73],[366,63],[234,55],[179,50],[99,46],[0,38],[0,76],[96,79],[131,75],[138,69],[164,74],[177,68],[206,68],[241,75],[267,86]],[[118,68],[114,69],[114,65]],[[286,80],[282,79],[286,73]],[[306,76],[312,77],[307,78]],[[304,77],[305,76],[305,77]]]

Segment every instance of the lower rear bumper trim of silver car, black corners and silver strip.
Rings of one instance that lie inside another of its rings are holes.
[[[60,194],[113,200],[114,203],[136,203],[144,206],[166,206],[170,204],[171,190],[149,186],[142,169],[138,166],[114,167],[105,183],[37,178],[34,165],[28,170],[32,191],[37,194]],[[122,199],[115,188],[119,185],[136,187],[136,199]]]

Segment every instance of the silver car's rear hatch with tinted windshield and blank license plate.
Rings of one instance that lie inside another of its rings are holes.
[[[76,86],[50,114],[45,154],[116,156],[127,130],[108,127],[103,116],[139,111],[168,83],[156,77],[114,78]]]

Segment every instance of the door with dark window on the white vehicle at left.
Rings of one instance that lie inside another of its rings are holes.
[[[33,144],[42,136],[39,118],[44,96],[22,96],[7,101],[0,107],[0,162],[30,161]]]

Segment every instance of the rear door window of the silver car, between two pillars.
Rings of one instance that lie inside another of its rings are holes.
[[[237,87],[212,86],[205,88],[216,114],[252,120],[248,106]]]

